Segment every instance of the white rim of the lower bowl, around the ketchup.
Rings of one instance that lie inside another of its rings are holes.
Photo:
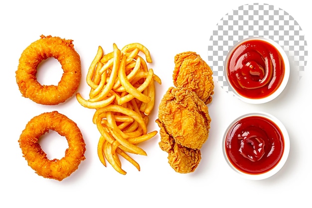
[[[246,118],[246,117],[250,117],[250,116],[262,116],[262,117],[265,117],[271,121],[273,121],[273,123],[275,123],[281,130],[282,134],[283,134],[283,137],[284,137],[284,151],[283,151],[283,155],[280,159],[280,161],[278,162],[277,165],[275,165],[273,167],[273,169],[269,170],[268,172],[265,172],[265,173],[261,173],[261,174],[248,174],[248,173],[245,173],[245,172],[242,172],[240,170],[238,170],[229,160],[228,156],[227,156],[227,153],[226,153],[226,137],[227,137],[227,134],[230,130],[230,128],[237,122],[239,121],[240,119],[242,118]],[[279,172],[282,167],[284,166],[284,164],[286,163],[287,161],[287,158],[288,158],[288,155],[289,155],[289,151],[290,151],[290,139],[289,139],[289,135],[288,135],[288,132],[285,128],[285,126],[283,125],[283,123],[277,119],[276,117],[274,117],[273,115],[271,114],[268,114],[268,113],[265,113],[265,112],[254,112],[254,113],[248,113],[248,114],[245,114],[245,115],[242,115],[238,118],[236,118],[228,127],[227,129],[225,130],[225,133],[224,133],[224,137],[223,137],[223,141],[222,141],[222,151],[223,151],[223,155],[224,155],[224,158],[227,162],[227,164],[229,165],[229,167],[234,170],[235,173],[237,173],[239,176],[245,178],[245,179],[249,179],[249,180],[263,180],[263,179],[266,179],[266,178],[269,178],[273,175],[275,175],[277,172]]]

